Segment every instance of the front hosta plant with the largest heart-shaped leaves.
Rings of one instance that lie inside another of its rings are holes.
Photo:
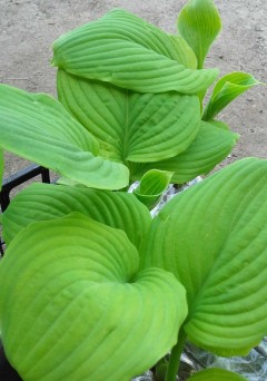
[[[0,323],[22,380],[130,380],[185,342],[244,355],[266,334],[267,162],[248,158],[167,203],[32,184],[2,215]],[[210,370],[192,380],[243,380]]]

